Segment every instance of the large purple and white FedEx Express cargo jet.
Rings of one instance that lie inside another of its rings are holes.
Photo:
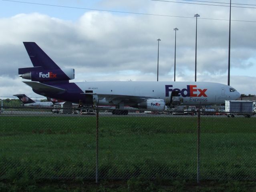
[[[233,87],[213,82],[69,82],[74,69],[61,69],[35,42],[23,42],[33,67],[19,68],[18,74],[32,90],[42,96],[86,106],[111,105],[128,114],[124,106],[145,110],[164,110],[165,105],[223,104],[236,100],[240,93]],[[121,112],[120,112],[121,111]]]

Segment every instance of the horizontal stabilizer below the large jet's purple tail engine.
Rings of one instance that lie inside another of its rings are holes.
[[[65,89],[34,82],[34,81],[23,81],[23,82],[38,92],[51,92],[53,94],[62,94],[66,92]]]

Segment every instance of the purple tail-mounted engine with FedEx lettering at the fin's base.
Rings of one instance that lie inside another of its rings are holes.
[[[44,70],[41,67],[19,68],[20,77],[32,81],[61,81],[75,78],[74,69]]]

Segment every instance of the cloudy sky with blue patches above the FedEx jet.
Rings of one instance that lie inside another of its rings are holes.
[[[194,14],[197,81],[228,83],[230,0],[23,2],[0,0],[0,98],[42,97],[18,77],[18,68],[32,67],[22,42],[36,42],[61,68],[74,68],[72,82],[156,81],[160,38],[159,81],[173,81],[176,27],[176,81],[194,81]],[[256,2],[232,6],[230,86],[256,94]]]

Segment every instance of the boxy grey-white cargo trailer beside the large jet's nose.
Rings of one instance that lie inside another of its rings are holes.
[[[253,114],[253,102],[252,101],[238,101],[231,100],[225,101],[225,112],[228,114],[228,117],[235,117],[235,114],[241,114],[245,117],[251,117]],[[229,113],[230,112],[230,113]]]

